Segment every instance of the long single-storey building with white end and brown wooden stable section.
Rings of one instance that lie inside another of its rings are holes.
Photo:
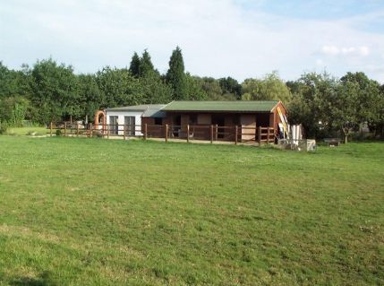
[[[100,114],[95,117],[98,126],[102,125]],[[168,130],[168,135],[175,138],[189,135],[211,140],[214,126],[217,140],[235,141],[235,128],[237,140],[256,140],[260,126],[274,135],[284,133],[286,108],[277,100],[172,101],[166,105],[107,108],[104,117],[110,134],[123,134],[125,128],[128,135],[142,135],[145,130],[151,137],[165,137]]]

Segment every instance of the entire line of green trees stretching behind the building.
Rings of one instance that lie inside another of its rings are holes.
[[[95,74],[75,74],[73,66],[48,58],[20,70],[0,62],[0,124],[21,126],[92,118],[100,108],[167,103],[172,100],[282,100],[288,120],[302,124],[307,137],[347,136],[362,124],[383,136],[384,85],[363,73],[337,79],[327,73],[303,74],[284,82],[277,72],[237,82],[185,72],[181,48],[175,48],[166,74],[160,74],[148,50],[134,53],[129,66],[105,66]]]

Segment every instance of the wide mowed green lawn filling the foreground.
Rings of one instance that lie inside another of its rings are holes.
[[[384,284],[384,143],[0,136],[1,285]]]

